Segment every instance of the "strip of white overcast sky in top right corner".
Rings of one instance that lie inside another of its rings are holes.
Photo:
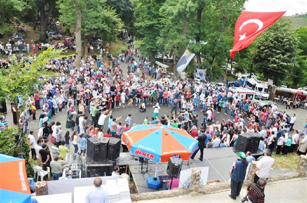
[[[292,16],[307,13],[307,0],[248,0],[245,8],[255,12],[287,11],[285,16]]]

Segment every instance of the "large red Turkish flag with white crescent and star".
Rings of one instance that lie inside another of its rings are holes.
[[[230,58],[251,44],[263,31],[273,25],[286,11],[250,12],[243,11],[235,23],[235,37]]]

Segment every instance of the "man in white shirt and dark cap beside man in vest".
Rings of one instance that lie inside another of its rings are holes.
[[[255,175],[254,183],[257,183],[259,178],[268,179],[271,166],[274,164],[274,159],[271,157],[271,150],[265,149],[263,152],[264,156],[257,162],[256,168],[253,172],[253,175]]]

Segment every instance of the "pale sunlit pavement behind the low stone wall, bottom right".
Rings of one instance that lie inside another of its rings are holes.
[[[307,191],[307,178],[294,178],[278,182],[269,183],[265,188],[265,202],[269,203],[305,203]],[[230,190],[222,191],[213,194],[197,195],[183,195],[178,197],[169,197],[163,199],[142,200],[135,201],[138,203],[187,203],[187,202],[206,202],[206,203],[235,203],[241,202],[240,200],[246,195],[246,190],[242,188],[240,195],[236,200],[228,197]]]

